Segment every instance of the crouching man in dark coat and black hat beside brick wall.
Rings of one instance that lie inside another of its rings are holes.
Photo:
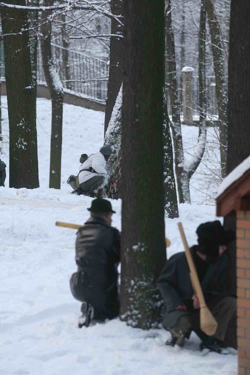
[[[165,304],[163,327],[172,334],[167,345],[180,347],[192,330],[201,339],[200,349],[222,353],[229,323],[235,319],[236,298],[227,293],[227,245],[234,231],[225,231],[219,220],[198,226],[198,245],[190,249],[205,302],[218,323],[214,336],[207,336],[199,325],[199,300],[193,295],[189,267],[184,252],[173,255],[163,269],[157,285]]]

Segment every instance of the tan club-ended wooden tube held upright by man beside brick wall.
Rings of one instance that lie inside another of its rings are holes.
[[[178,228],[180,230],[181,239],[185,249],[185,255],[187,258],[187,263],[189,265],[190,279],[193,285],[193,290],[195,295],[198,297],[200,304],[200,327],[201,330],[205,332],[207,335],[213,336],[217,330],[218,324],[205,303],[204,295],[201,289],[201,284],[195,269],[195,264],[190,253],[189,246],[187,245],[186,236],[181,223],[178,223]]]

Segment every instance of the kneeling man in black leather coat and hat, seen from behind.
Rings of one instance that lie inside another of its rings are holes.
[[[92,201],[90,218],[76,237],[78,271],[70,279],[75,299],[82,302],[79,327],[88,327],[93,318],[105,321],[119,314],[118,272],[120,233],[111,226],[111,203],[103,198]]]

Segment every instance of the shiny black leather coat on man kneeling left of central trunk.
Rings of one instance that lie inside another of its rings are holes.
[[[102,290],[117,283],[120,233],[101,217],[90,217],[76,237],[76,264],[84,284]]]

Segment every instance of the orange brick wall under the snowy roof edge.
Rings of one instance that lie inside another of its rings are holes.
[[[239,375],[250,375],[250,211],[237,211],[237,336]]]

